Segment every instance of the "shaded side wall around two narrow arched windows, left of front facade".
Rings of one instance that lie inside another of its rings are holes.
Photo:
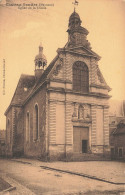
[[[38,105],[38,140],[34,140],[35,105]],[[30,138],[26,141],[26,114],[30,115]],[[44,158],[46,156],[46,86],[42,87],[24,107],[24,155]]]

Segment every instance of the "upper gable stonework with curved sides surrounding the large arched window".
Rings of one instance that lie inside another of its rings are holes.
[[[90,68],[91,64],[90,64],[90,61],[85,58],[85,56],[83,55],[86,55],[86,56],[90,56],[90,54],[92,55],[92,52],[90,53],[90,51],[84,49],[83,47],[77,47],[77,48],[70,48],[68,50],[65,50],[65,52],[69,53],[69,56],[67,56],[65,58],[65,53],[64,52],[64,48],[63,49],[59,49],[58,50],[59,52],[59,56],[58,56],[58,59],[56,59],[50,73],[48,74],[48,78],[50,79],[56,79],[56,80],[69,80],[69,81],[72,81],[72,67],[71,67],[71,63],[74,64],[74,62],[76,61],[83,61],[83,58],[84,58],[84,63],[88,66],[88,68]],[[81,56],[75,56],[74,53],[76,54],[80,54],[81,53]],[[70,56],[71,55],[71,56]],[[93,54],[95,55],[95,54]],[[67,67],[66,67],[67,66]],[[93,64],[92,66],[95,66],[95,64]],[[95,73],[94,75],[96,75],[96,85],[99,85],[99,86],[103,86],[103,87],[108,87],[107,86],[107,83],[99,69],[98,68],[94,68],[95,69]],[[67,71],[66,71],[67,70]],[[90,77],[91,75],[93,75],[93,73],[90,71]],[[90,82],[90,85],[92,83]]]

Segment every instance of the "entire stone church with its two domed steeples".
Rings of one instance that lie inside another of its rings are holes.
[[[6,154],[73,159],[109,153],[107,85],[88,30],[74,11],[68,42],[47,66],[42,45],[35,75],[21,75],[6,115]]]

